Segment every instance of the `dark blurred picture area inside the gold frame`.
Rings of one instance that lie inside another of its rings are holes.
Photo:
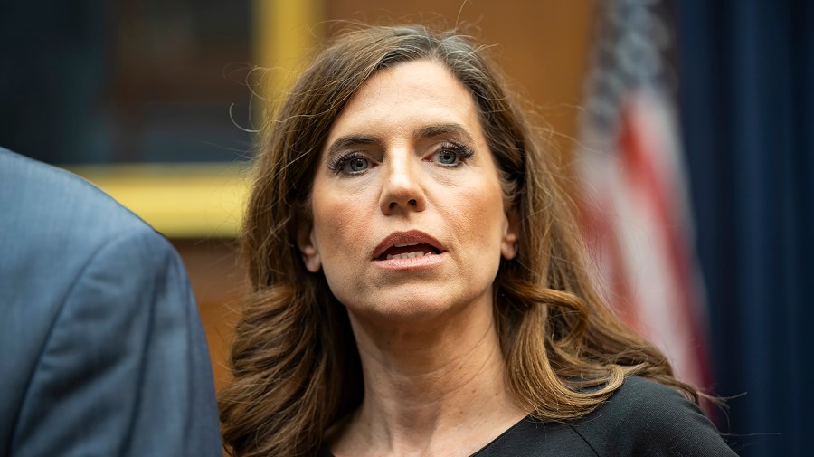
[[[251,3],[6,0],[0,144],[49,163],[231,161]],[[230,112],[230,106],[235,108]]]

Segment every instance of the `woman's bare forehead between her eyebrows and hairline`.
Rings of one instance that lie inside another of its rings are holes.
[[[331,127],[327,143],[348,133],[410,133],[428,124],[458,124],[483,139],[469,90],[440,62],[400,63],[374,74]]]

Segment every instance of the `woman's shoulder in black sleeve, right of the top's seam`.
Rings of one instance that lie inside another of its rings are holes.
[[[734,455],[695,403],[638,376],[571,427],[598,455]]]

